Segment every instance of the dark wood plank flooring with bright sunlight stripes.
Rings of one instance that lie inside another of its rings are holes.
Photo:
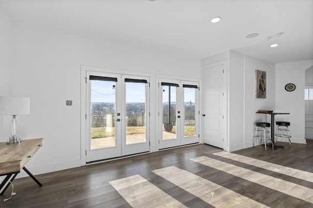
[[[313,140],[231,153],[209,145],[158,151],[13,181],[1,208],[313,207]]]

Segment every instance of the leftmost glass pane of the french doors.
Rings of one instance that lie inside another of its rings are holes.
[[[90,80],[90,149],[116,147],[115,82]]]

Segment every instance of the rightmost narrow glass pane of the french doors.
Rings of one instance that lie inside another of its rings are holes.
[[[184,136],[196,135],[196,90],[184,87]]]

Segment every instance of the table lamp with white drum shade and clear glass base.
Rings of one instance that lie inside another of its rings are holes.
[[[21,138],[16,136],[16,116],[30,113],[29,97],[0,96],[0,115],[12,115],[11,133],[7,144],[20,143]]]

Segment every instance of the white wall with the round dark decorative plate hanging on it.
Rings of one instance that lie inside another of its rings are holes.
[[[313,59],[276,64],[276,111],[290,114],[277,116],[276,120],[290,121],[291,142],[305,143],[305,71],[313,66]],[[293,83],[296,89],[285,90],[285,85]]]

